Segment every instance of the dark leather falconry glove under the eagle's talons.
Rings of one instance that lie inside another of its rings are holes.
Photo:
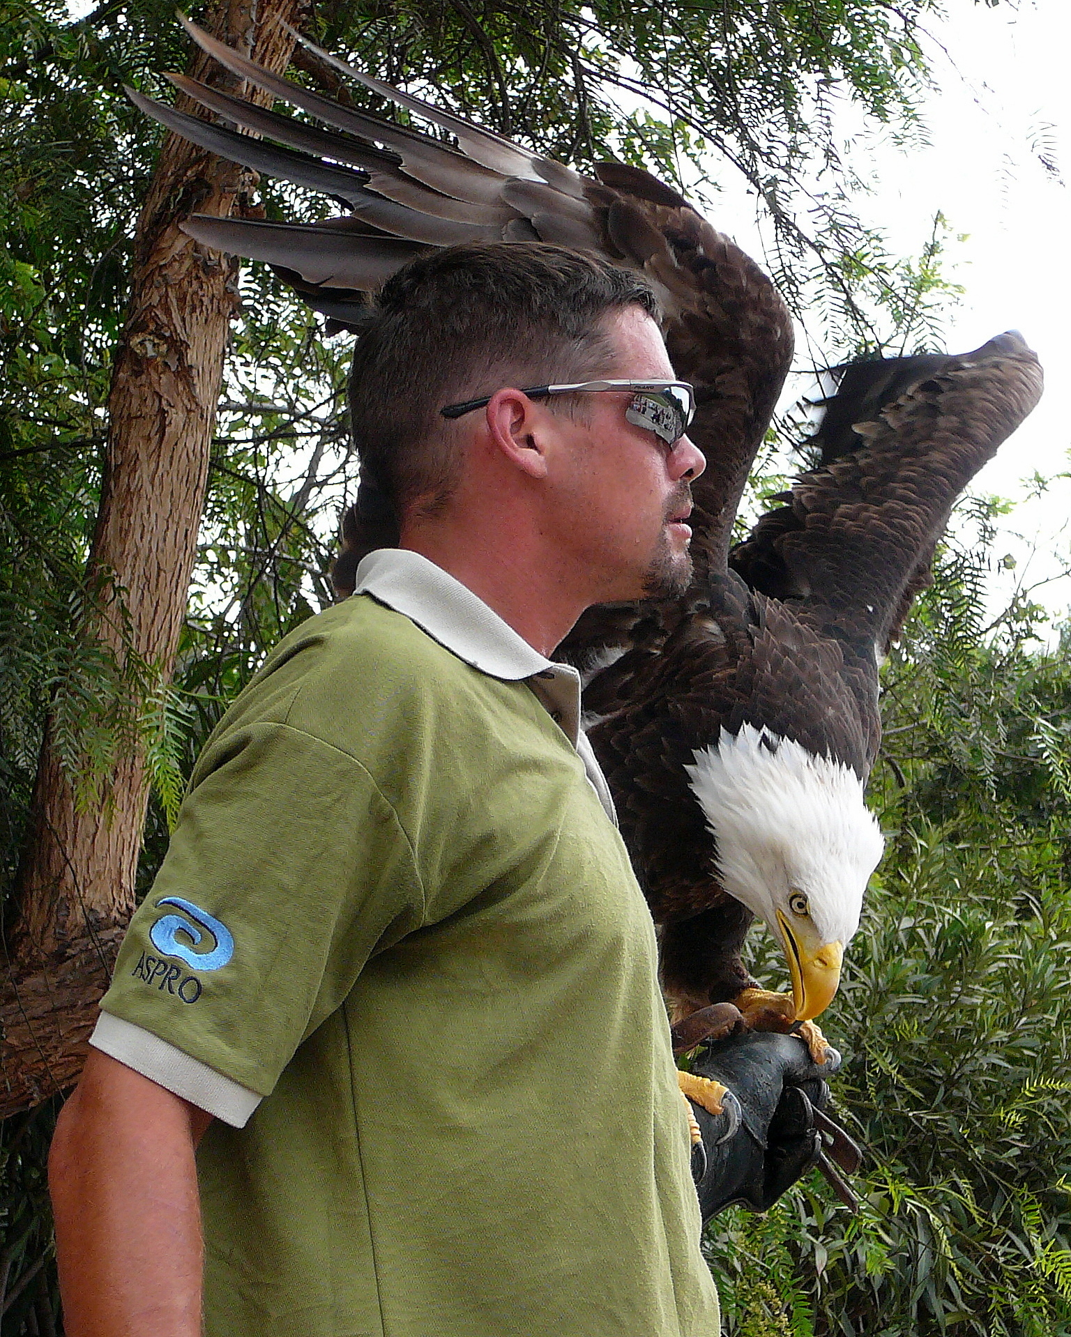
[[[841,1066],[837,1051],[828,1052],[818,1067],[801,1039],[766,1031],[698,1051],[691,1071],[727,1087],[722,1114],[693,1104],[705,1152],[693,1157],[703,1225],[734,1202],[765,1211],[818,1163],[816,1118],[828,1122],[821,1111],[829,1103],[824,1079]]]

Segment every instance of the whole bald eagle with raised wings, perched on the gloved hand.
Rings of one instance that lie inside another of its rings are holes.
[[[186,230],[267,261],[336,325],[360,332],[364,294],[412,257],[480,238],[594,250],[654,286],[670,357],[697,390],[691,436],[709,461],[694,485],[693,584],[671,603],[590,610],[560,656],[588,679],[591,741],[661,928],[678,1024],[729,1003],[741,1024],[813,1027],[881,857],[864,804],[878,660],[928,579],[956,497],[1036,402],[1036,357],[1004,334],[963,357],[838,369],[816,465],[731,548],[793,352],[785,303],[747,255],[635,167],[582,175],[305,43],[447,130],[451,146],[293,84],[183,21],[233,75],[328,128],[181,75],[168,79],[258,138],[131,99],[223,158],[349,207],[322,223],[195,217]],[[758,989],[741,961],[754,917],[785,949],[792,995]],[[809,1042],[820,1058],[817,1028]]]

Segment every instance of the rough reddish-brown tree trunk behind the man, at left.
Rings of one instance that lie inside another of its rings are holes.
[[[282,72],[304,0],[219,0],[213,33]],[[191,74],[241,91],[198,55]],[[266,104],[270,95],[259,94]],[[183,99],[181,99],[183,104]],[[186,102],[183,110],[197,110]],[[197,246],[191,213],[247,207],[255,174],[168,135],[135,234],[130,309],[108,398],[108,447],[88,576],[124,603],[87,627],[162,678],[172,670],[205,501],[215,404],[237,303],[237,263]],[[79,810],[45,734],[16,923],[0,977],[0,1118],[70,1087],[82,1070],[96,1003],[134,908],[148,797],[144,761],[126,755],[106,802]]]

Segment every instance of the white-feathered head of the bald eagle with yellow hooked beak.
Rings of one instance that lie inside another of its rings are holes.
[[[718,880],[784,943],[797,1020],[818,1016],[885,844],[858,775],[751,725],[722,730],[687,773],[718,845]]]

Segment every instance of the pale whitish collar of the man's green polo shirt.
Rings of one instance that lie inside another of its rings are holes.
[[[448,571],[408,548],[377,548],[357,567],[354,594],[414,622],[451,654],[491,678],[527,681],[540,705],[580,754],[584,770],[611,821],[614,802],[591,743],[580,731],[580,674],[546,659],[479,595]]]

